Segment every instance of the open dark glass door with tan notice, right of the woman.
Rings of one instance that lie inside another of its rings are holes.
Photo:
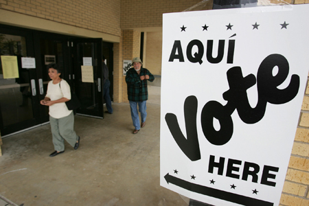
[[[71,40],[73,89],[82,106],[78,115],[103,118],[102,38]]]

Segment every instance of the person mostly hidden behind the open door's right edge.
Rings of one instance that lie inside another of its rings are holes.
[[[111,87],[111,82],[109,81],[108,68],[105,64],[105,57],[102,56],[102,70],[103,70],[103,97],[106,102],[107,111],[105,113],[113,114],[113,108],[111,107],[111,96],[109,95],[109,87]]]

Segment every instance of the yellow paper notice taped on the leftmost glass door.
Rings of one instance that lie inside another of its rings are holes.
[[[3,79],[19,78],[17,56],[1,56]]]

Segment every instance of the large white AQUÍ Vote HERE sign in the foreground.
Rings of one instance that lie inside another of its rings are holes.
[[[309,67],[309,5],[163,14],[160,184],[279,205]]]

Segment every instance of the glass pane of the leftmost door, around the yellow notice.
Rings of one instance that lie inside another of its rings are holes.
[[[21,68],[21,57],[27,56],[25,37],[0,34],[1,56],[17,56],[19,78],[3,78],[0,64],[0,109],[3,126],[33,119],[29,69]]]

